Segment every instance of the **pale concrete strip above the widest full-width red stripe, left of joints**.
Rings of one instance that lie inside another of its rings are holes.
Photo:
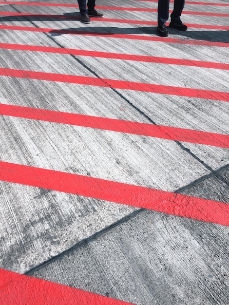
[[[209,173],[168,140],[14,117],[1,121],[5,126],[1,130],[1,160],[5,162],[165,191],[184,187]],[[172,179],[168,181],[171,168]]]

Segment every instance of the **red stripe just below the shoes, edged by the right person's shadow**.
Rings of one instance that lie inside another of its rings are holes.
[[[202,45],[212,47],[229,47],[229,43],[226,42],[212,42],[205,40],[190,40],[190,39],[175,39],[175,38],[162,38],[158,36],[141,36],[141,35],[128,35],[128,34],[112,34],[103,32],[89,32],[89,31],[76,31],[76,30],[54,30],[47,28],[33,28],[28,26],[14,26],[14,25],[0,25],[0,30],[14,30],[14,31],[30,31],[30,32],[42,32],[51,34],[71,34],[71,35],[83,35],[83,36],[96,36],[106,38],[121,38],[121,39],[135,39],[135,40],[148,40],[159,41],[166,43],[179,43],[188,45]]]

